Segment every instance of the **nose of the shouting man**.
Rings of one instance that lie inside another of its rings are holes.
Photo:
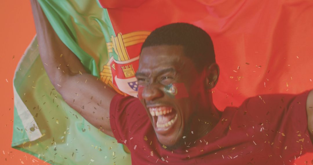
[[[150,84],[144,88],[142,91],[142,98],[146,100],[146,102],[154,101],[157,98],[163,97],[163,91],[160,90],[160,87],[156,84]]]

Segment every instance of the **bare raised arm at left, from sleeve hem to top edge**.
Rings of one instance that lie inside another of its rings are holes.
[[[85,71],[80,60],[54,32],[37,0],[31,0],[31,5],[40,57],[51,83],[70,107],[113,137],[109,108],[115,91]]]

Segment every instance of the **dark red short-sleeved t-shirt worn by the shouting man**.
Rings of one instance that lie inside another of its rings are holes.
[[[228,107],[212,131],[173,151],[158,143],[137,98],[115,95],[110,124],[117,141],[130,149],[136,165],[292,164],[313,148],[307,129],[308,93],[262,95],[247,99],[239,108]]]

